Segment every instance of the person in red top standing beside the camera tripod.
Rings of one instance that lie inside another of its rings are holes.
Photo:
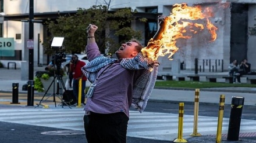
[[[73,93],[74,97],[76,97],[76,101],[78,102],[78,94],[79,94],[79,80],[82,79],[82,95],[81,95],[81,103],[84,104],[85,95],[84,90],[86,89],[86,76],[83,75],[81,71],[81,67],[86,65],[83,61],[78,60],[78,56],[76,54],[72,55],[73,63],[70,64],[70,72],[73,75]]]

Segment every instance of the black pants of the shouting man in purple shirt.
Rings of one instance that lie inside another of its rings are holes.
[[[88,143],[126,143],[129,118],[123,112],[84,115]]]

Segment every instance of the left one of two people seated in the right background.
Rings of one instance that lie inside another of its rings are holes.
[[[239,65],[237,64],[237,60],[234,60],[232,63],[230,63],[229,75],[233,77],[233,83],[236,83],[236,79],[238,83],[241,83],[240,74],[239,74]]]

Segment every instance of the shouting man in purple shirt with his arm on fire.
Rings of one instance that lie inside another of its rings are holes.
[[[161,25],[163,19],[159,17]],[[158,63],[143,57],[143,46],[136,39],[119,47],[115,52],[118,59],[101,56],[94,38],[97,28],[91,24],[87,27],[90,63],[82,70],[93,84],[84,107],[84,130],[88,143],[125,143],[129,108],[133,106],[140,112],[145,108],[157,78]],[[162,30],[151,40],[160,39]]]

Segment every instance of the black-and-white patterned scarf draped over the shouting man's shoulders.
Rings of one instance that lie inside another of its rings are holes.
[[[115,63],[115,61],[115,58],[99,56],[82,67],[81,70],[87,79],[93,83],[97,78],[99,69],[108,64]],[[150,58],[146,58],[139,53],[134,58],[123,58],[120,65],[130,70],[147,69],[135,81],[131,101],[131,107],[134,107],[139,112],[143,112],[157,80],[158,61],[151,61]]]

